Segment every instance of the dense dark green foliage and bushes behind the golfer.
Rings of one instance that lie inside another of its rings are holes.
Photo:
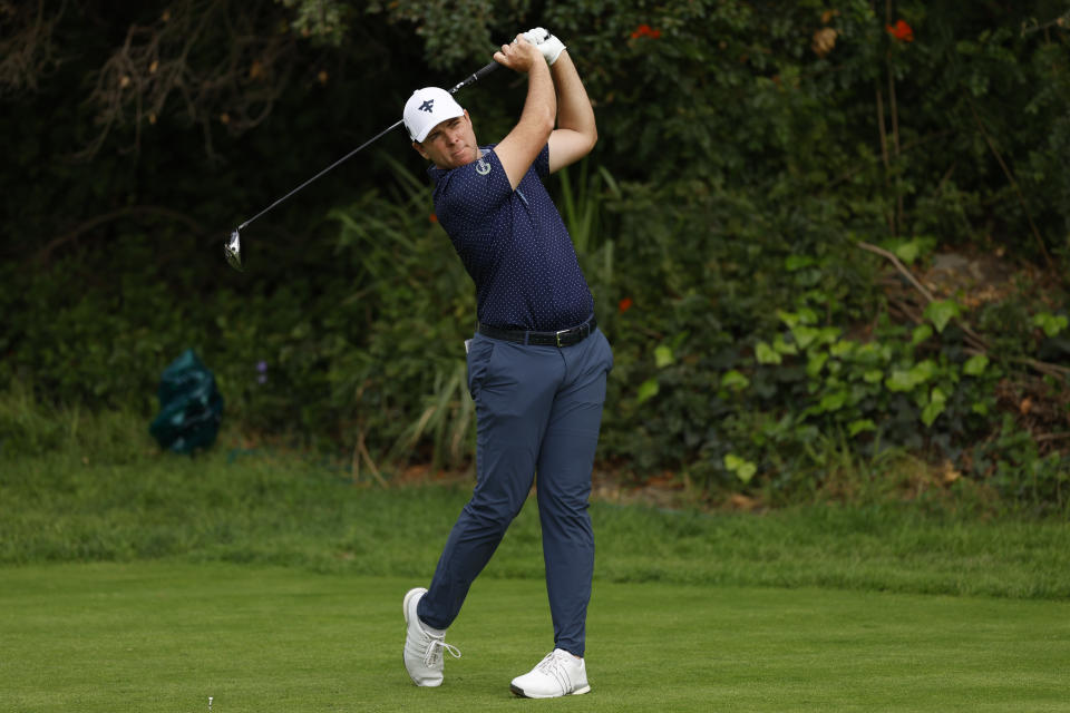
[[[0,66],[0,385],[148,416],[194,346],[251,433],[464,466],[470,283],[400,136],[243,235],[249,273],[218,244],[410,87],[541,23],[599,117],[552,189],[615,351],[604,467],[784,501],[920,458],[940,487],[1070,508],[1064,2],[70,4],[54,39],[84,62]],[[188,12],[230,18],[189,36],[184,76],[217,89],[196,100],[156,79],[174,40],[145,39]],[[156,55],[109,64],[132,23]],[[496,140],[523,92],[498,74],[460,97]],[[0,420],[4,450],[23,437]]]

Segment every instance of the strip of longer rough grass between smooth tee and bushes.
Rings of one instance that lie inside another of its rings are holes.
[[[0,564],[167,558],[426,576],[467,496],[467,485],[357,486],[295,455],[64,448],[0,460]],[[760,515],[595,502],[591,512],[605,582],[1070,596],[1061,520],[898,502]],[[486,576],[543,576],[534,499]]]

